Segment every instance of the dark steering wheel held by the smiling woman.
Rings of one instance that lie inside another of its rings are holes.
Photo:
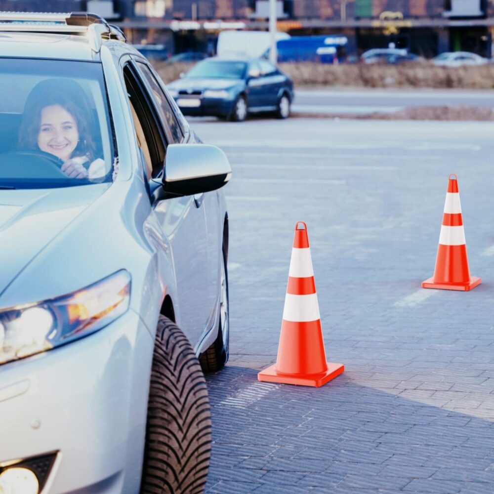
[[[59,178],[60,176],[68,178],[61,169],[63,163],[60,158],[38,149],[9,151],[0,155],[0,176],[7,178],[10,175],[9,171],[16,170],[18,172],[19,167],[22,167],[24,168],[23,172],[20,174],[15,173],[15,176],[38,178],[40,175],[39,166],[47,165],[52,172],[48,173],[51,178]]]

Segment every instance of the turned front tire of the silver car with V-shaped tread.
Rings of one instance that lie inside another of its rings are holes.
[[[160,316],[141,494],[202,493],[210,455],[211,417],[204,374],[186,336]]]

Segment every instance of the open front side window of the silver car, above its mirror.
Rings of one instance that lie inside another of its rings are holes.
[[[130,65],[124,67],[124,81],[144,172],[146,178],[150,180],[163,171],[166,138],[157,123],[158,115],[153,112],[154,105],[150,101],[150,96],[135,69]]]

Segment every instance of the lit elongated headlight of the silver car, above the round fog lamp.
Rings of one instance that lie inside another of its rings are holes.
[[[51,350],[101,329],[124,314],[130,274],[122,270],[89,287],[0,311],[0,365]]]

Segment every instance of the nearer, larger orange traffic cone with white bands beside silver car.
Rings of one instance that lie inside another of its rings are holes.
[[[299,221],[291,251],[278,358],[257,378],[319,387],[344,370],[342,364],[326,362],[307,225]]]

